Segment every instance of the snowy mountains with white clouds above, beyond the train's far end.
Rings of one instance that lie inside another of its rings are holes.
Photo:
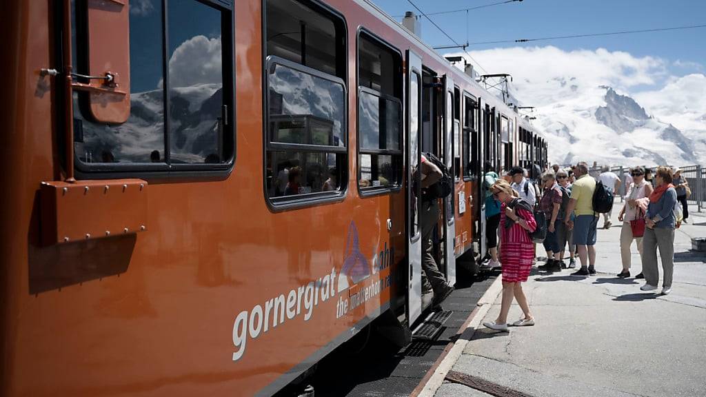
[[[510,93],[519,105],[535,107],[532,123],[549,143],[550,162],[706,165],[703,73],[672,76],[669,61],[606,49],[471,54],[486,73],[513,76]]]

